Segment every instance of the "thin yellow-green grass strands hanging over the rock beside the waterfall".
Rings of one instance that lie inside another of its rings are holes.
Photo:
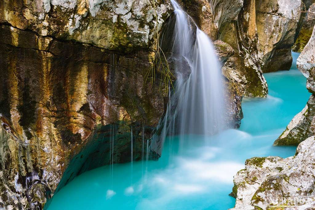
[[[166,92],[169,91],[169,86],[173,87],[172,78],[174,78],[174,75],[169,69],[169,63],[166,59],[166,56],[160,47],[159,43],[159,34],[158,34],[158,26],[157,26],[157,11],[156,11],[156,5],[155,0],[152,0],[153,8],[154,8],[154,14],[155,14],[155,21],[156,21],[156,34],[157,34],[157,51],[154,53],[154,58],[152,60],[151,66],[149,70],[146,73],[146,80],[148,77],[151,77],[151,87],[153,87],[153,82],[157,76],[157,72],[160,73],[161,79],[160,79],[160,85],[159,89],[161,90],[162,82],[164,85],[164,89]]]

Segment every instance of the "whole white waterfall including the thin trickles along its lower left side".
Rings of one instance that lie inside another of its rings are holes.
[[[159,155],[162,148],[158,145],[163,142],[157,141],[164,141],[167,135],[206,136],[224,128],[223,77],[213,44],[175,0],[171,3],[176,18],[172,58],[177,79],[175,94],[169,97],[166,114],[160,122],[161,136],[153,137],[152,141],[152,150]]]

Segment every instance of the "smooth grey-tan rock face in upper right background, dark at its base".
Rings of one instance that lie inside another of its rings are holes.
[[[256,1],[257,31],[265,62],[263,72],[290,69],[300,10],[300,0]]]

